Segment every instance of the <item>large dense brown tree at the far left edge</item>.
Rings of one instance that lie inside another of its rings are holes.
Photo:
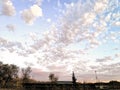
[[[0,62],[0,84],[1,86],[9,86],[13,79],[18,77],[19,68],[13,64],[3,64]]]

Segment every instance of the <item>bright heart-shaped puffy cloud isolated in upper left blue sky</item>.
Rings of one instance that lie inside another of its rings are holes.
[[[42,9],[38,5],[33,5],[30,9],[25,9],[21,12],[22,19],[27,24],[33,24],[33,22],[42,16]]]

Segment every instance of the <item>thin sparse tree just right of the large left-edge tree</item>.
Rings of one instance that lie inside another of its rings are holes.
[[[31,74],[31,67],[23,68],[22,69],[22,80],[23,83],[30,81],[30,74]]]

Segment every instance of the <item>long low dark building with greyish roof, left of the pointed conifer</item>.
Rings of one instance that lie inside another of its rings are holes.
[[[26,90],[73,90],[74,85],[71,81],[40,82],[40,83],[24,83]]]

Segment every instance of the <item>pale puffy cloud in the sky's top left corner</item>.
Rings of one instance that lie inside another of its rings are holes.
[[[11,0],[2,0],[2,14],[7,16],[15,15],[15,7]]]

